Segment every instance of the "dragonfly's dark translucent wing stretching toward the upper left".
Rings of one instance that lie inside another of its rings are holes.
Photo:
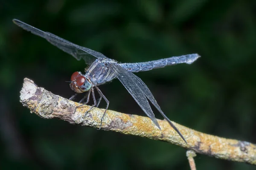
[[[30,26],[26,23],[23,23],[20,20],[13,19],[13,22],[17,26],[20,26],[21,28],[25,29],[26,31],[30,31],[32,34],[43,37],[44,39],[49,41],[52,45],[55,45],[56,47],[65,51],[66,53],[72,55],[77,60],[80,60],[81,58],[84,59],[84,61],[88,65],[90,65],[96,58],[99,58],[99,57],[107,58],[105,55],[97,51],[93,51],[89,48],[76,45],[52,33],[41,31],[40,29]]]

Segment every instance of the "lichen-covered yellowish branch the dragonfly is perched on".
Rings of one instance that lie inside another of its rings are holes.
[[[81,104],[52,94],[27,78],[24,79],[23,88],[20,91],[20,102],[31,112],[43,118],[58,118],[71,124],[94,128],[99,128],[104,113],[104,109],[93,108],[83,119],[84,113],[90,106],[84,105],[76,109],[76,106]],[[148,117],[108,110],[101,129],[166,141],[188,150],[194,150],[196,153],[256,165],[255,144],[208,135],[173,122],[188,142],[186,144],[168,122],[159,119],[157,121],[162,130],[159,130]]]

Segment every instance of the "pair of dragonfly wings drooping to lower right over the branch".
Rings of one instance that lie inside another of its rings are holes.
[[[135,101],[140,105],[140,108],[148,115],[148,117],[154,122],[155,125],[160,129],[157,119],[148,103],[148,100],[157,108],[157,110],[162,114],[166,121],[172,126],[172,128],[180,135],[180,137],[186,142],[185,138],[182,136],[180,131],[173,125],[173,123],[168,119],[168,117],[163,113],[157,101],[154,99],[153,94],[148,89],[148,86],[137,77],[135,74],[128,72],[122,68],[117,63],[109,63],[109,68],[113,71],[120,82],[125,86],[127,91],[135,99]],[[148,100],[147,100],[148,99]]]

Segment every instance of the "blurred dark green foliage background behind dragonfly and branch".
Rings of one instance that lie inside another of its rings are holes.
[[[73,91],[65,81],[85,64],[17,27],[13,18],[120,62],[200,54],[192,65],[137,75],[171,120],[256,141],[255,1],[4,0],[0,16],[0,169],[189,169],[186,150],[173,144],[29,113],[19,102],[25,77],[69,98]],[[118,80],[100,89],[109,109],[145,116]],[[200,154],[195,162],[198,170],[256,168]]]

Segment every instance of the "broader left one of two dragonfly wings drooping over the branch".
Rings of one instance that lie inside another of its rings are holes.
[[[134,98],[134,100],[138,103],[140,108],[148,115],[148,117],[154,122],[154,124],[159,128],[159,124],[157,122],[157,119],[154,116],[154,113],[148,103],[148,100],[139,87],[139,84],[134,81],[135,76],[133,73],[126,71],[124,68],[119,66],[116,63],[108,63],[109,68],[113,71],[113,73],[116,75],[116,77],[119,79],[119,81],[125,86],[127,91],[131,94],[131,96]]]

